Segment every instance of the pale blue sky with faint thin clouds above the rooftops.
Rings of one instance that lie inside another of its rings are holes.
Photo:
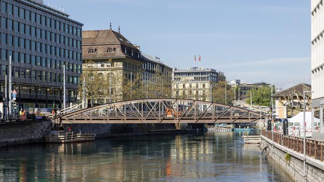
[[[84,24],[109,22],[143,53],[169,66],[197,66],[227,80],[272,82],[287,88],[310,83],[310,2],[306,0],[57,0],[53,4]]]

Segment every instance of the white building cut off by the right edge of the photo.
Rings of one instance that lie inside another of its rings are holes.
[[[311,85],[312,112],[320,118],[323,131],[324,109],[324,6],[322,0],[311,0]],[[316,127],[313,125],[313,128]]]

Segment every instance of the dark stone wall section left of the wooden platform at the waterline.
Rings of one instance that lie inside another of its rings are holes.
[[[17,121],[0,123],[0,147],[44,142],[51,131],[51,121]]]

